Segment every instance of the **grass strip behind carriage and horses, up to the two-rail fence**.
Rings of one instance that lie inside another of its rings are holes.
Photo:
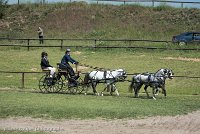
[[[49,53],[50,63],[56,67],[60,62],[64,51],[55,48],[37,49],[30,51],[26,49],[8,49],[0,51],[1,71],[41,71],[40,54],[43,50]],[[75,51],[75,49],[72,49]],[[160,68],[170,68],[176,76],[200,76],[200,62],[166,60],[166,57],[198,58],[196,51],[168,51],[168,50],[128,50],[128,49],[98,49],[87,50],[78,49],[80,53],[73,53],[72,57],[80,63],[89,64],[93,67],[103,67],[109,69],[125,69],[127,73],[156,72]],[[5,60],[9,59],[9,60]],[[72,65],[73,66],[73,65]],[[74,66],[73,66],[74,67]],[[83,72],[91,69],[83,70]],[[38,89],[38,81],[42,74],[25,74],[25,88]],[[83,77],[84,75],[82,75]],[[131,75],[127,78],[131,80]],[[199,79],[178,78],[166,81],[167,93],[169,94],[200,94]],[[119,91],[127,92],[129,83],[119,83]],[[21,87],[21,74],[0,75],[0,87]],[[98,87],[98,90],[101,90]]]

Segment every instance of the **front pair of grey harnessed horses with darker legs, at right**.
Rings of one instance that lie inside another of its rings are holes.
[[[173,79],[173,71],[171,69],[160,69],[156,73],[141,73],[134,75],[129,86],[129,91],[134,90],[135,97],[138,97],[138,93],[142,85],[145,85],[144,90],[149,97],[147,88],[150,86],[152,88],[153,99],[156,100],[156,95],[159,88],[162,89],[162,93],[166,97],[165,80],[167,78]]]

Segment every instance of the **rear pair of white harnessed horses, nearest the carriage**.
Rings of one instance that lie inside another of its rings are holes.
[[[85,95],[87,94],[88,88],[92,86],[93,93],[99,95],[96,90],[96,86],[98,83],[105,83],[106,87],[101,92],[101,96],[103,96],[103,92],[106,88],[111,87],[110,94],[116,92],[117,96],[119,96],[119,92],[116,88],[115,83],[118,81],[123,81],[127,77],[126,72],[123,69],[113,70],[113,71],[92,71],[85,75],[84,84],[87,86],[85,90]]]

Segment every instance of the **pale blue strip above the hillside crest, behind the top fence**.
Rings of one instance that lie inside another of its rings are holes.
[[[20,3],[37,3],[42,0],[19,0]],[[87,3],[97,3],[95,0],[71,0],[71,1],[85,1]],[[200,2],[200,0],[171,0],[171,1],[181,1],[181,2]],[[45,0],[48,3],[55,3],[55,2],[70,2],[70,0]],[[8,0],[9,4],[17,4],[18,0]],[[113,5],[121,5],[124,4],[123,2],[108,2],[108,1],[99,1],[101,4],[113,4]],[[152,6],[152,2],[127,2],[126,4],[140,4],[144,6]],[[159,5],[169,5],[177,8],[181,8],[180,3],[154,3],[154,6]],[[200,8],[200,4],[183,4],[183,7],[186,8]]]

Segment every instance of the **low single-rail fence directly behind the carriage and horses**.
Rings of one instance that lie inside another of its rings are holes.
[[[25,88],[25,74],[41,74],[41,73],[46,73],[46,72],[18,72],[18,71],[0,71],[0,74],[21,74],[21,88]],[[85,73],[82,73],[85,74]],[[137,73],[128,73],[127,75],[134,75]],[[173,76],[177,78],[187,78],[187,79],[200,79],[200,76]]]

